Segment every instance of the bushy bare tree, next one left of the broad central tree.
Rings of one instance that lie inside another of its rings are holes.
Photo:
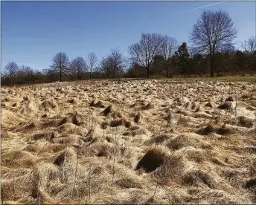
[[[118,49],[112,49],[109,56],[103,58],[101,62],[102,69],[106,77],[116,78],[124,74],[126,60]]]

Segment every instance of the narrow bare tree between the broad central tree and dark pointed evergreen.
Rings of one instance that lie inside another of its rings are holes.
[[[166,77],[168,78],[172,65],[171,56],[173,56],[174,52],[177,50],[178,42],[173,37],[164,36],[162,46],[162,56],[164,56],[164,70],[166,71]]]

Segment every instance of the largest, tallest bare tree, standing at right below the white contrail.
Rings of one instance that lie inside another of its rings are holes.
[[[196,25],[193,25],[190,40],[196,53],[208,54],[211,58],[211,77],[215,71],[215,53],[226,50],[234,45],[237,36],[234,23],[228,13],[204,11]]]

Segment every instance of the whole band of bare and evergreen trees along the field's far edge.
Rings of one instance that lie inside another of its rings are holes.
[[[49,68],[35,71],[27,65],[9,62],[1,74],[1,85],[36,82],[73,81],[102,78],[140,78],[173,76],[220,76],[223,73],[256,72],[256,37],[234,47],[237,30],[225,11],[204,11],[193,25],[187,42],[178,43],[172,36],[142,33],[138,42],[128,48],[125,57],[112,49],[98,59],[88,53],[85,59],[69,59],[57,53]]]

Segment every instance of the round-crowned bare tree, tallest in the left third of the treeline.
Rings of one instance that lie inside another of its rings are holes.
[[[68,56],[64,52],[57,53],[52,59],[52,65],[50,68],[54,73],[60,75],[60,81],[62,81],[62,76],[68,69]]]

